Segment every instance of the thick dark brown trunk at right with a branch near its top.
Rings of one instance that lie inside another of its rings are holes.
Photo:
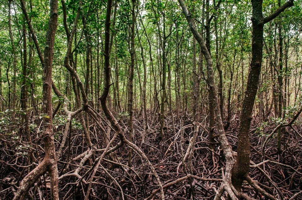
[[[240,191],[243,180],[249,173],[250,140],[249,127],[252,119],[254,100],[257,94],[259,75],[262,64],[263,52],[263,28],[264,24],[278,16],[283,10],[293,5],[293,0],[280,6],[277,11],[269,17],[264,18],[262,14],[262,0],[252,0],[252,60],[247,82],[247,88],[242,105],[240,126],[238,133],[238,157],[233,169],[232,183]]]

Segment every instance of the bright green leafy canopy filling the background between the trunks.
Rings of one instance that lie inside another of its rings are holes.
[[[38,43],[40,45],[41,50],[44,49],[45,44],[45,35],[47,30],[47,21],[49,18],[49,5],[47,1],[32,1],[32,9],[30,8],[30,2],[26,2],[26,8],[31,18],[31,23],[35,30]],[[71,31],[74,19],[76,17],[76,11],[78,8],[78,0],[66,0],[66,12],[67,12],[67,26]],[[76,64],[73,66],[77,70],[77,74],[80,77],[82,83],[85,81],[86,74],[86,49],[87,49],[87,41],[83,34],[83,23],[86,20],[87,34],[90,37],[89,45],[92,46],[92,86],[93,86],[93,94],[89,93],[87,96],[89,101],[96,105],[96,92],[101,93],[103,90],[103,47],[104,47],[104,21],[105,21],[105,8],[106,1],[88,1],[84,0],[81,6],[81,12],[79,16],[78,23],[76,24],[76,40],[74,40],[72,45],[72,59],[71,63]],[[113,100],[116,101],[116,91],[115,88],[115,58],[117,58],[118,62],[118,73],[119,73],[119,92],[120,92],[120,100],[121,104],[125,105],[126,103],[126,90],[127,90],[127,75],[128,75],[128,67],[130,63],[130,53],[129,53],[129,41],[130,41],[130,25],[132,24],[131,18],[131,9],[132,4],[131,1],[122,0],[115,2],[112,9],[112,21],[111,21],[111,29],[110,33],[113,34],[112,38],[112,49],[111,49],[111,77],[114,85],[110,88],[110,95],[113,97]],[[193,94],[193,51],[192,51],[192,34],[189,32],[187,21],[182,14],[182,10],[180,9],[177,1],[150,1],[147,0],[145,2],[137,1],[137,5],[135,7],[136,14],[136,24],[135,24],[135,53],[136,53],[136,64],[135,66],[135,74],[134,74],[134,86],[137,89],[135,91],[135,97],[137,98],[137,106],[140,106],[139,99],[141,98],[140,94],[140,84],[138,81],[138,74],[141,77],[141,81],[143,80],[143,58],[141,56],[141,49],[139,46],[138,38],[140,38],[141,43],[143,45],[143,56],[146,62],[146,92],[147,92],[147,108],[152,108],[155,101],[154,97],[157,95],[160,97],[160,75],[161,75],[161,62],[162,62],[162,47],[160,46],[160,42],[163,42],[163,35],[165,30],[165,35],[169,35],[166,42],[166,51],[167,54],[167,63],[169,63],[169,67],[171,68],[171,102],[172,104],[176,104],[176,94],[179,93],[181,98],[192,99]],[[144,4],[143,4],[144,3]],[[217,2],[216,2],[217,3]],[[285,3],[285,0],[282,0],[281,3]],[[300,59],[300,49],[301,49],[301,30],[302,30],[302,15],[301,15],[301,0],[295,0],[294,6],[290,9],[286,9],[285,12],[281,14],[280,17],[276,18],[271,25],[265,26],[265,42],[268,47],[274,51],[274,45],[278,46],[276,43],[278,36],[277,33],[274,32],[276,28],[276,23],[282,23],[282,34],[284,36],[284,44],[288,45],[290,49],[289,52],[295,51],[295,58],[292,55],[289,55],[288,59],[288,67],[285,70],[283,68],[282,76],[287,77],[295,77],[297,80],[301,75],[301,70],[297,70],[297,73],[293,73],[297,68],[301,66]],[[263,10],[264,16],[268,16],[273,11],[277,9],[277,0],[264,0],[263,1]],[[13,77],[13,57],[12,57],[12,45],[9,39],[8,34],[8,23],[7,23],[7,15],[8,15],[8,4],[7,2],[0,3],[0,26],[2,29],[0,30],[0,67],[1,67],[1,78],[0,81],[2,83],[2,97],[7,100],[8,94],[12,95],[12,81],[14,79],[17,80],[16,91],[17,97],[20,97],[20,88],[22,87],[22,81],[26,80],[26,86],[28,86],[29,92],[29,102],[34,101],[35,104],[41,105],[42,101],[42,65],[40,63],[40,59],[37,56],[36,49],[33,48],[34,53],[31,58],[31,63],[27,66],[28,75],[24,77],[22,75],[21,69],[21,52],[22,52],[22,36],[20,35],[22,32],[22,26],[24,24],[24,18],[22,11],[20,8],[13,2],[14,12],[12,12],[12,31],[14,37],[14,45],[17,48],[17,75]],[[206,10],[203,1],[186,1],[186,5],[188,6],[192,16],[196,19],[196,25],[199,31],[204,31],[204,23],[206,18],[206,13],[209,13],[211,16],[215,14],[216,18],[213,18],[210,24],[211,27],[211,55],[214,63],[216,62],[215,55],[215,40],[214,37],[214,20],[217,21],[217,31],[218,31],[218,53],[219,53],[219,61],[221,62],[221,66],[223,69],[223,87],[224,87],[224,95],[226,97],[226,88],[231,84],[229,80],[230,77],[230,66],[232,66],[234,62],[234,71],[233,76],[236,80],[233,80],[234,88],[231,88],[233,99],[233,103],[236,101],[240,101],[242,98],[241,85],[243,82],[243,86],[248,76],[249,71],[249,59],[251,53],[251,3],[249,0],[239,1],[239,0],[223,0],[221,1],[220,8],[216,10],[214,7],[213,1],[210,1],[210,8]],[[116,18],[115,18],[115,26],[113,26],[113,13],[116,6]],[[70,98],[70,106],[71,109],[74,109],[73,106],[75,103],[75,95],[72,88],[71,82],[66,82],[67,76],[69,76],[69,72],[64,68],[64,55],[66,53],[67,47],[67,37],[63,25],[63,11],[62,5],[59,3],[58,9],[59,19],[58,19],[58,30],[56,33],[55,39],[55,49],[54,49],[54,60],[53,60],[53,81],[55,82],[58,89],[64,93],[68,98]],[[214,15],[213,15],[214,16]],[[280,20],[282,19],[282,20]],[[145,30],[144,30],[145,28]],[[27,30],[28,33],[28,30]],[[147,34],[147,36],[146,36]],[[204,33],[203,33],[204,36]],[[289,38],[289,39],[288,39]],[[148,40],[151,42],[151,47],[149,47]],[[274,44],[275,43],[275,44]],[[29,53],[29,45],[33,45],[33,42],[30,40],[30,35],[27,35],[27,52]],[[151,48],[151,49],[149,49]],[[97,55],[97,49],[99,50],[99,54]],[[199,45],[197,45],[197,51],[199,49]],[[153,69],[151,66],[151,57]],[[235,55],[235,59],[233,55]],[[76,57],[77,56],[77,57]],[[177,57],[178,56],[178,57]],[[264,54],[264,62],[268,60],[268,65],[270,64],[270,59],[278,58],[274,57],[274,52],[265,51]],[[99,58],[98,63],[96,59]],[[243,61],[241,61],[243,60]],[[204,61],[203,61],[204,62]],[[241,63],[243,66],[241,68]],[[100,69],[99,82],[97,83],[97,68]],[[266,92],[266,94],[271,95],[271,87],[276,83],[276,77],[271,79],[269,70],[266,69],[263,71],[263,83],[260,88],[260,92]],[[203,78],[206,78],[206,66],[203,63],[202,69],[204,72],[204,76],[200,77],[200,90],[203,92],[207,89],[206,82]],[[168,68],[166,68],[168,72]],[[243,74],[243,80],[241,74]],[[168,75],[168,73],[167,73]],[[215,75],[217,75],[217,71],[215,71]],[[177,76],[179,76],[180,86],[179,90],[177,88],[178,80]],[[218,77],[218,76],[217,76]],[[168,77],[166,77],[168,79]],[[155,79],[155,80],[154,80]],[[90,77],[89,80],[90,81]],[[237,84],[234,82],[237,81]],[[156,91],[158,94],[154,94],[154,83],[156,83]],[[218,79],[217,82],[218,84]],[[77,84],[77,83],[76,83]],[[293,83],[290,83],[293,84]],[[298,83],[297,83],[298,84]],[[293,86],[293,88],[298,88],[298,85]],[[100,85],[100,88],[97,86]],[[8,88],[10,86],[10,88]],[[293,90],[293,89],[290,89]],[[33,94],[31,94],[31,92]],[[293,92],[293,91],[288,91]],[[204,92],[203,94],[205,94]],[[299,95],[298,95],[299,97]],[[268,97],[270,98],[270,97]],[[18,100],[20,101],[20,100]],[[57,98],[53,95],[53,107],[57,105],[57,103],[63,103],[63,98]],[[184,99],[181,99],[183,102]],[[265,101],[264,101],[265,102]],[[9,102],[11,103],[11,102]],[[3,106],[3,110],[8,109],[8,104]],[[19,103],[19,102],[18,102]],[[178,103],[178,102],[177,102]],[[116,104],[116,102],[114,102]],[[190,104],[190,101],[188,102]],[[115,106],[115,105],[114,105]],[[172,105],[173,107],[173,105]],[[239,108],[240,109],[240,106]],[[290,117],[294,112],[293,108],[285,108],[286,117]],[[24,114],[24,111],[18,111],[17,109],[14,111],[17,114]],[[123,116],[123,114],[119,114],[121,118],[127,116]],[[40,115],[39,118],[43,118],[45,116]],[[55,121],[54,124],[60,128],[64,123],[65,119],[61,121]],[[277,119],[274,121],[278,121]],[[73,123],[77,124],[78,121],[73,121]],[[81,129],[80,125],[76,125],[77,128]],[[34,128],[34,127],[32,127]]]

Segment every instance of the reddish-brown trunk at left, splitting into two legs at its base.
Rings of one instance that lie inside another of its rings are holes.
[[[21,0],[21,4],[24,1]],[[25,11],[25,12],[24,12]],[[24,10],[24,14],[26,10]],[[36,179],[48,171],[50,175],[50,192],[51,198],[59,199],[58,192],[58,169],[57,159],[55,155],[54,139],[53,139],[53,125],[52,125],[52,64],[53,64],[53,50],[54,39],[58,25],[58,1],[50,1],[50,17],[48,21],[48,31],[46,34],[46,44],[44,49],[44,63],[43,63],[43,141],[45,149],[45,157],[43,161],[33,169],[25,178],[21,181],[19,189],[14,197],[15,199],[22,199],[28,192],[29,188],[36,181]],[[27,13],[26,13],[27,14]]]

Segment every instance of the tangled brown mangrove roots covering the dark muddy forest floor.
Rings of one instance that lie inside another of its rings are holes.
[[[22,178],[36,167],[45,155],[40,138],[43,131],[41,119],[32,118],[29,144],[22,133],[24,125],[20,124],[17,115],[14,118],[12,111],[8,111],[0,116],[0,199],[11,199]],[[226,131],[233,151],[237,148],[238,116],[239,114],[233,117]],[[136,115],[134,143],[143,150],[158,173],[164,186],[165,199],[190,199],[191,187],[194,187],[193,195],[196,199],[213,199],[225,167],[219,143],[216,140],[215,151],[212,152],[208,147],[206,131],[199,129],[192,158],[194,176],[188,175],[188,160],[183,162],[183,157],[193,134],[193,124],[186,114],[178,117],[174,114],[173,117],[174,124],[171,115],[166,116],[165,138],[161,141],[158,116],[149,112],[149,129],[144,130],[143,116]],[[117,119],[126,133],[127,115],[117,115]],[[53,120],[57,150],[62,140],[65,121],[63,115],[56,115]],[[205,116],[201,116],[199,122],[208,127]],[[276,135],[271,137],[263,149],[261,147],[264,139],[277,126],[275,122],[268,120],[264,125],[259,125],[254,119],[250,128],[251,161],[254,162],[251,162],[250,176],[277,199],[302,199],[302,126],[298,125],[298,122],[299,119],[292,128],[284,130],[282,153],[277,153]],[[111,131],[107,122],[102,123],[112,138],[114,131]],[[146,160],[139,153],[132,152],[132,166],[128,168],[129,149],[124,145],[105,156],[92,177],[98,158],[106,146],[98,126],[93,121],[89,129],[92,143],[95,145],[92,155],[83,142],[81,123],[76,119],[72,120],[67,145],[58,160],[60,199],[84,199],[91,180],[93,182],[89,199],[158,199],[159,183]],[[118,142],[119,139],[115,139],[112,145],[115,146]],[[193,182],[190,182],[192,177]],[[50,199],[48,182],[48,175],[42,176],[29,191],[28,198]],[[247,182],[243,184],[243,192],[255,199],[263,199]],[[293,197],[297,193],[299,195]]]

